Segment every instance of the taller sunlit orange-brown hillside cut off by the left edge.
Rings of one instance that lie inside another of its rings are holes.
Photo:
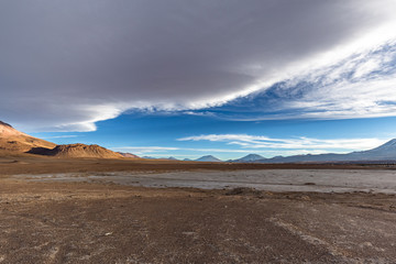
[[[0,121],[0,151],[29,152],[33,147],[53,148],[56,144],[22,133]]]

